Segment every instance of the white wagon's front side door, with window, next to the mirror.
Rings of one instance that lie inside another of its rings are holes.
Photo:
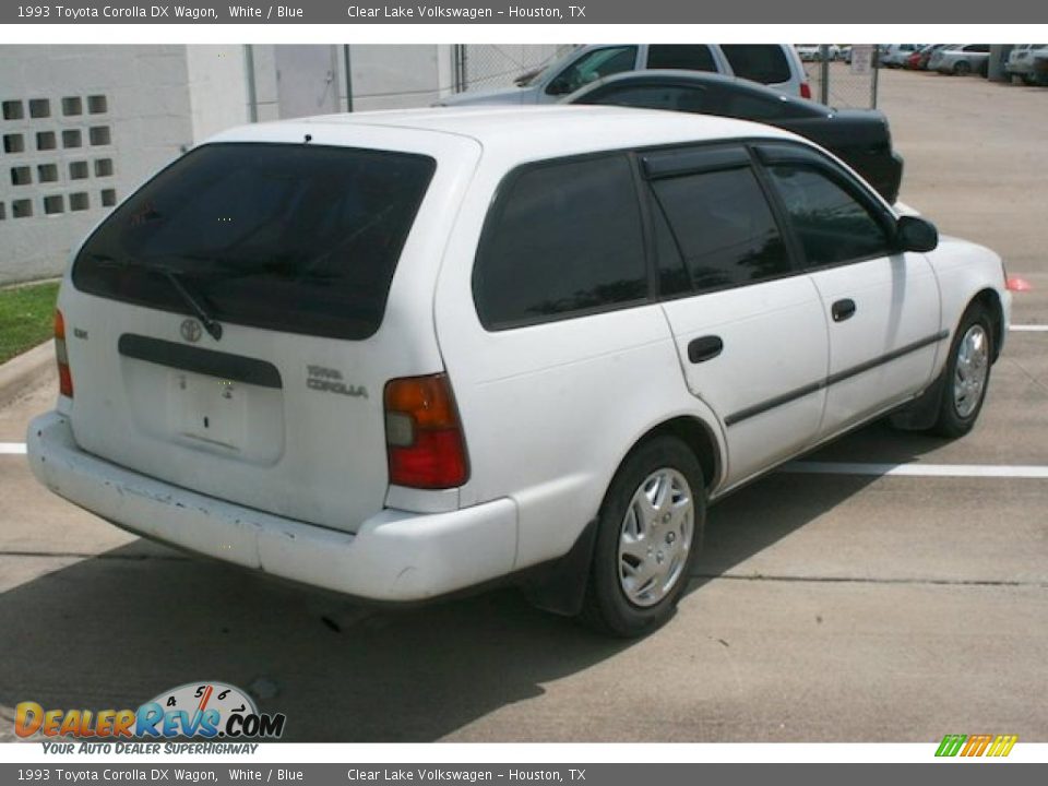
[[[928,384],[945,337],[939,286],[924,254],[894,250],[894,218],[848,172],[800,145],[760,152],[830,330],[822,438]]]

